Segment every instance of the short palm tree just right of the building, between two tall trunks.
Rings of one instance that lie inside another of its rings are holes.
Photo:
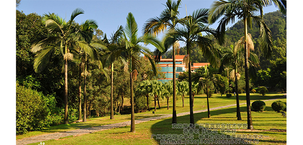
[[[208,118],[211,117],[211,112],[210,112],[210,106],[209,106],[209,99],[211,97],[211,93],[209,92],[210,89],[210,83],[213,83],[214,80],[214,74],[218,73],[218,70],[215,68],[210,68],[205,66],[204,67],[204,73],[200,74],[200,73],[195,73],[193,75],[192,80],[195,83],[198,83],[197,86],[197,92],[199,93],[201,91],[201,89],[205,89],[205,93],[206,93],[206,98],[207,98],[207,112],[208,112]]]

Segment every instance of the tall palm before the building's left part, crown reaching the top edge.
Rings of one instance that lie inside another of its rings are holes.
[[[159,17],[151,18],[147,21],[144,26],[145,33],[151,33],[158,35],[160,32],[164,32],[166,27],[168,29],[174,29],[179,22],[179,10],[181,6],[181,0],[166,1],[166,9],[164,9]],[[173,80],[173,109],[172,109],[172,123],[177,123],[177,111],[176,111],[176,60],[175,60],[175,46],[178,43],[174,42],[172,45],[172,80]],[[164,52],[157,51],[158,58],[162,53],[165,53],[168,50],[168,47],[165,48]]]

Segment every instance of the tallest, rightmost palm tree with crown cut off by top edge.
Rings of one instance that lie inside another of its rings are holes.
[[[253,129],[251,110],[250,110],[250,95],[249,95],[249,74],[248,74],[248,54],[247,48],[247,26],[252,27],[252,19],[258,23],[260,27],[261,49],[266,57],[271,56],[272,52],[272,37],[268,26],[263,20],[263,7],[275,4],[279,7],[282,13],[286,14],[286,0],[219,0],[214,1],[211,5],[209,22],[215,23],[221,16],[217,31],[220,37],[219,42],[225,42],[226,25],[229,22],[234,22],[235,17],[243,20],[244,22],[244,50],[245,50],[245,91],[246,91],[246,105],[247,105],[247,128]],[[260,12],[260,15],[256,15]]]

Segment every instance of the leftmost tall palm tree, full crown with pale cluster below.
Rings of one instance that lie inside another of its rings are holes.
[[[82,29],[78,29],[75,26],[74,19],[77,15],[83,14],[84,11],[80,8],[76,8],[71,18],[68,22],[62,17],[49,13],[44,14],[43,24],[45,24],[48,30],[48,35],[34,42],[31,46],[31,51],[33,53],[39,52],[35,56],[34,60],[34,70],[35,72],[42,72],[47,64],[48,60],[55,51],[61,52],[64,60],[64,70],[65,70],[65,89],[64,89],[64,102],[65,102],[65,112],[64,112],[64,124],[69,123],[68,118],[68,60],[73,60],[73,54],[70,53],[73,47],[80,44],[80,41],[89,41],[92,38],[92,33],[85,33],[82,30],[89,30],[90,28],[82,25]],[[90,25],[91,28],[97,27],[94,23]],[[85,28],[84,28],[85,27]],[[84,33],[83,33],[84,32]],[[84,43],[85,44],[85,43]]]

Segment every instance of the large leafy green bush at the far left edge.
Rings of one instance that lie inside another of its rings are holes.
[[[50,110],[42,93],[16,83],[16,134],[48,127]]]

